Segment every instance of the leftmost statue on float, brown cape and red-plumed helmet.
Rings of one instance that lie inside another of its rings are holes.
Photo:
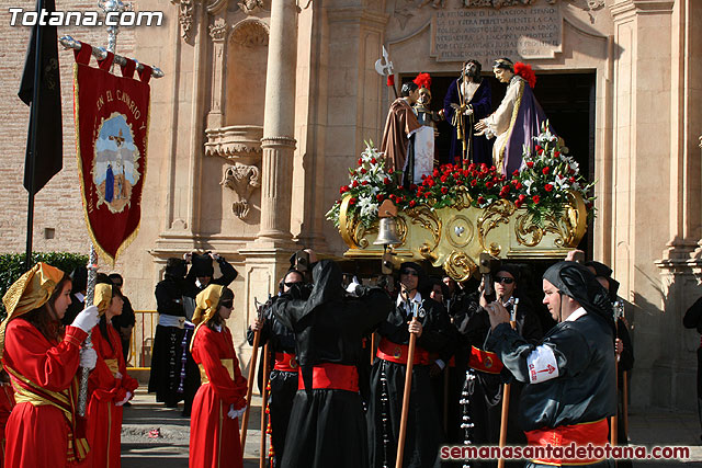
[[[432,127],[419,122],[412,107],[419,100],[419,90],[416,81],[403,83],[400,98],[390,104],[381,145],[386,168],[392,169],[397,174],[397,183],[406,187],[421,183],[421,175],[433,170],[434,133]]]

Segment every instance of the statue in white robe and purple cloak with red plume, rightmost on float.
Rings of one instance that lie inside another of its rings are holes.
[[[540,134],[546,115],[534,98],[536,76],[529,65],[499,58],[492,71],[499,81],[508,83],[507,93],[495,113],[475,124],[475,135],[495,138],[492,164],[509,175],[521,169],[524,145],[533,148],[533,137]]]

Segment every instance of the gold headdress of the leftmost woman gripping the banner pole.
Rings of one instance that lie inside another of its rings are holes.
[[[8,322],[48,303],[63,277],[64,272],[39,262],[10,286],[2,297],[8,317],[0,324],[0,358],[4,353],[4,330]]]

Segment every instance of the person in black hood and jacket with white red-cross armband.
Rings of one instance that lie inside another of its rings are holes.
[[[616,413],[614,320],[609,292],[584,265],[559,262],[543,275],[543,303],[558,323],[539,343],[509,326],[509,313],[488,304],[492,333],[487,341],[522,390],[519,423],[529,445],[608,443],[608,418]],[[608,466],[601,459],[531,460],[526,467],[576,463]]]

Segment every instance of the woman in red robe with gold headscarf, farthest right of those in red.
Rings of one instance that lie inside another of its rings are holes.
[[[242,467],[238,419],[246,410],[247,381],[239,370],[231,332],[231,289],[210,285],[195,298],[191,343],[202,386],[190,420],[190,468]]]

